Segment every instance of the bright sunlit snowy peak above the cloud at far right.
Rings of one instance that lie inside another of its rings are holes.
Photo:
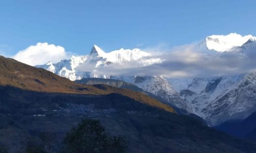
[[[240,47],[248,40],[255,41],[256,37],[252,35],[242,36],[237,33],[231,33],[228,35],[211,35],[206,37],[206,47],[208,49],[214,49],[218,52],[229,51],[233,47]]]

